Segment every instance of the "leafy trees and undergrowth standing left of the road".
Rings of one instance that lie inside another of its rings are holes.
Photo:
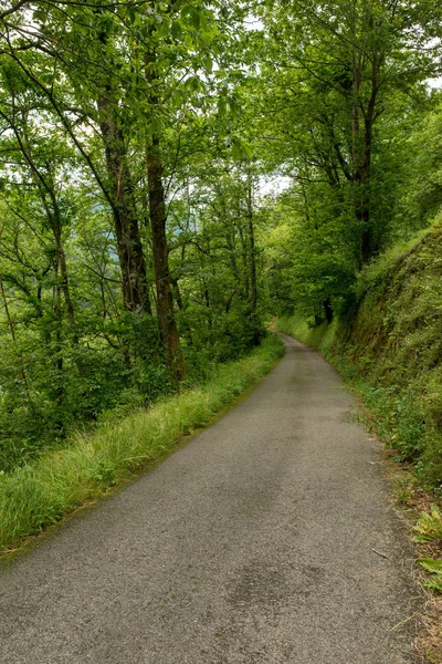
[[[11,9],[0,15],[6,471],[263,336],[259,169],[231,126],[243,11]]]

